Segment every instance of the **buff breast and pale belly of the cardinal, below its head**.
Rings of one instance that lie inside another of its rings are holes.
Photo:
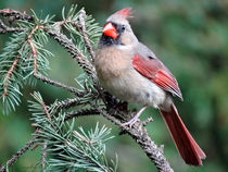
[[[123,100],[154,108],[167,103],[168,109],[172,98],[132,67],[134,54],[131,46],[125,49],[121,47],[99,49],[94,64],[100,83]]]

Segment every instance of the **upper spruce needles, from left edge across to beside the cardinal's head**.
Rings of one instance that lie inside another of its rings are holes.
[[[86,34],[88,41],[94,47],[100,36],[100,26],[94,22],[91,15],[86,15],[84,9],[77,12],[77,7],[72,5],[65,15],[65,8],[62,11],[63,21],[54,22],[53,16],[47,16],[45,20],[39,19],[34,13],[34,23],[18,21],[17,25],[23,32],[12,34],[7,42],[3,53],[0,54],[0,95],[2,101],[2,111],[8,114],[15,110],[15,106],[21,102],[21,96],[24,85],[36,84],[33,74],[47,75],[49,67],[49,58],[53,54],[45,48],[50,37],[46,29],[54,27],[64,27],[71,35],[73,42],[85,57],[89,57],[86,48],[83,27],[79,25],[80,15],[84,16]],[[52,25],[53,24],[53,25]],[[56,26],[59,25],[59,26]]]

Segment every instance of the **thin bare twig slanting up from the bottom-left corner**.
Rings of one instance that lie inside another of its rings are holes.
[[[18,158],[22,156],[22,155],[24,155],[28,149],[29,149],[29,147],[31,147],[34,144],[35,144],[35,142],[36,142],[36,136],[33,138],[33,139],[30,139],[22,149],[20,149],[8,162],[7,162],[7,164],[8,165],[12,165],[13,163],[15,163],[17,160],[18,160]],[[5,167],[2,167],[1,169],[0,169],[0,172],[5,172],[7,171],[7,168]]]

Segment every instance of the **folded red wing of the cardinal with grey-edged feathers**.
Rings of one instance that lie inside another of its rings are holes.
[[[160,60],[155,58],[147,60],[136,54],[132,59],[132,65],[141,75],[182,100],[176,78]]]

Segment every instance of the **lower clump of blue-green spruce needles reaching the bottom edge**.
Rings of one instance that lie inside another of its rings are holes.
[[[37,142],[46,145],[48,153],[47,168],[45,171],[93,171],[93,172],[115,172],[117,163],[111,160],[109,164],[105,156],[105,143],[113,138],[110,136],[111,130],[105,126],[99,128],[99,124],[93,130],[86,133],[83,127],[74,131],[74,120],[65,121],[65,113],[56,111],[56,103],[43,112],[43,100],[39,93],[34,93],[37,101],[29,101],[29,111],[33,112],[33,120],[37,127]]]

